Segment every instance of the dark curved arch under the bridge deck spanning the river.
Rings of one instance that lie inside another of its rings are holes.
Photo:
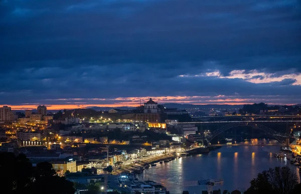
[[[256,129],[260,129],[261,131],[264,131],[264,132],[268,133],[269,135],[271,135],[273,138],[275,138],[281,144],[286,145],[286,137],[277,135],[277,133],[274,130],[272,130],[271,128],[263,126],[263,125],[259,125],[257,123],[232,123],[229,125],[225,125],[219,129],[215,130],[214,132],[212,132],[211,133],[212,136],[210,139],[208,139],[208,141],[210,142],[213,138],[215,138],[219,134],[223,133],[224,131],[227,131],[234,127],[240,127],[240,126],[250,126],[250,127],[256,128]]]

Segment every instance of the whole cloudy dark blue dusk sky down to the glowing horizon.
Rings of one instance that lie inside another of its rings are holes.
[[[0,105],[301,103],[301,1],[0,0]]]

